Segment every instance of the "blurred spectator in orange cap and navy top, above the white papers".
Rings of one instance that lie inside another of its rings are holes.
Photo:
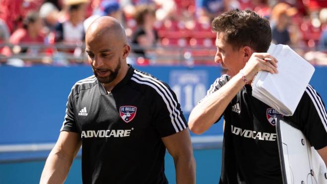
[[[275,44],[291,44],[289,35],[290,20],[297,13],[295,7],[279,2],[272,8],[272,42]]]

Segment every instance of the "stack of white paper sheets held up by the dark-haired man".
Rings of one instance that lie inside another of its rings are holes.
[[[268,53],[277,59],[278,73],[259,71],[252,82],[252,96],[280,114],[291,116],[315,68],[287,45],[271,44]]]

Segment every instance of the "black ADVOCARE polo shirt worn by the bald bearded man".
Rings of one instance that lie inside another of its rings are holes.
[[[167,184],[161,138],[185,128],[168,85],[130,66],[111,92],[95,76],[76,82],[61,130],[81,136],[84,184]]]

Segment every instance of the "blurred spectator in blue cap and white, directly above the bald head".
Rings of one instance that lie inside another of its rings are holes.
[[[99,7],[94,10],[94,14],[84,21],[84,30],[86,31],[90,24],[101,16],[111,16],[122,22],[122,11],[120,10],[118,2],[115,0],[104,0],[100,3]]]

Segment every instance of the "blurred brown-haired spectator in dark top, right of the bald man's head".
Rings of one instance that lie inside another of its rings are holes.
[[[139,47],[133,48],[132,51],[138,56],[147,58],[145,48],[155,47],[159,38],[154,29],[156,11],[152,6],[139,5],[136,7],[135,20],[137,29],[132,35],[132,44]]]

